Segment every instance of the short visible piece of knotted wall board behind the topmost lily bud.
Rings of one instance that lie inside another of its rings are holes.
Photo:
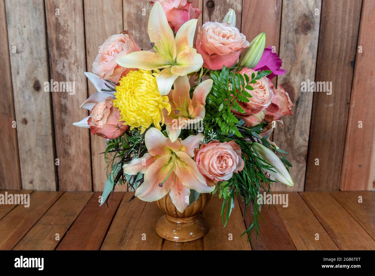
[[[203,0],[203,24],[222,22],[228,9],[236,12],[236,27],[241,31],[242,0]]]

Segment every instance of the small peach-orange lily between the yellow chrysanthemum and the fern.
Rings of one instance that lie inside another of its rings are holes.
[[[195,127],[204,119],[206,114],[206,97],[210,93],[213,80],[202,81],[194,90],[193,98],[190,99],[190,84],[187,75],[178,77],[174,83],[174,89],[168,94],[169,103],[172,111],[163,110],[166,132],[172,142],[180,136],[181,129],[193,129],[189,127],[195,124]]]

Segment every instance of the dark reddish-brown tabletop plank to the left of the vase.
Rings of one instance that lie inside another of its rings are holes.
[[[56,250],[99,250],[124,193],[111,193],[99,206],[101,192],[95,192]]]

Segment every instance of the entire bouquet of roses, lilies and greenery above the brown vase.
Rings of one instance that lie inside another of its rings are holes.
[[[223,225],[237,197],[253,215],[245,233],[258,234],[258,195],[277,181],[294,185],[287,152],[270,141],[276,122],[292,115],[288,93],[271,81],[285,73],[282,61],[264,33],[246,40],[233,9],[199,27],[194,41],[201,10],[192,2],[150,3],[151,49],[121,31],[85,72],[98,93],[74,124],[107,138],[102,204],[121,184],[144,201],[169,194],[181,213],[200,193],[218,193]]]

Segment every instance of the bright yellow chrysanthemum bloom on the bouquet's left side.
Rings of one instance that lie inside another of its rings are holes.
[[[171,105],[168,103],[168,96],[162,96],[157,89],[156,73],[139,70],[130,71],[120,80],[116,86],[116,99],[113,100],[114,107],[120,111],[120,120],[124,124],[134,127],[141,127],[143,133],[151,123],[157,129],[161,129],[160,121],[164,124],[163,108],[171,112]]]

